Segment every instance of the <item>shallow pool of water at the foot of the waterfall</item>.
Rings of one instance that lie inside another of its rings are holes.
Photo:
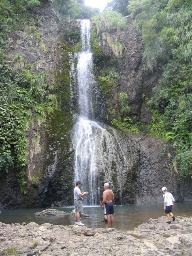
[[[119,230],[132,230],[138,225],[146,222],[149,218],[156,219],[160,216],[164,216],[163,204],[150,204],[150,205],[118,205],[114,206],[114,228]],[[35,209],[13,209],[13,210],[1,210],[0,222],[11,224],[23,222],[36,222],[43,224],[49,222],[55,225],[70,225],[74,224],[74,219],[68,219],[66,216],[34,216],[34,213],[43,211],[46,208],[35,208]],[[70,213],[74,207],[60,207],[54,208],[60,211]],[[83,207],[84,213],[89,215],[90,218],[81,219],[81,221],[92,228],[103,228],[107,227],[107,224],[102,222],[103,209],[99,206],[95,207]],[[173,213],[177,215],[192,216],[192,202],[175,203]]]

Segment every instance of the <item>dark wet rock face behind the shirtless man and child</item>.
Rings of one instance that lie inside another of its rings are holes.
[[[176,201],[182,201],[177,173],[171,170],[172,149],[169,144],[164,145],[157,138],[127,132],[119,131],[118,134],[120,148],[116,147],[116,150],[124,152],[126,159],[121,158],[119,163],[115,163],[119,166],[114,166],[117,168],[116,173],[112,168],[109,172],[106,167],[103,178],[111,181],[115,204],[163,202],[163,186],[168,188]],[[102,189],[100,194],[102,195]]]

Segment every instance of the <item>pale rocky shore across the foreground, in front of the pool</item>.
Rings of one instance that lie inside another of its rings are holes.
[[[0,255],[192,256],[192,217],[149,219],[132,231],[49,223],[0,222]]]

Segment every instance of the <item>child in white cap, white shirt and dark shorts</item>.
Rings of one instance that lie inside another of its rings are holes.
[[[164,198],[164,210],[165,213],[168,217],[168,224],[171,224],[171,217],[173,218],[173,221],[175,220],[175,216],[172,213],[172,207],[175,207],[175,199],[173,197],[173,195],[169,192],[167,192],[167,188],[166,187],[162,187],[162,192],[163,192],[163,198]]]

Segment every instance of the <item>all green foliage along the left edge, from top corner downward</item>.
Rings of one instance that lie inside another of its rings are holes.
[[[53,4],[53,1],[0,1],[0,176],[14,170],[23,193],[26,191],[26,131],[34,117],[45,120],[58,108],[57,88],[55,84],[47,84],[45,71],[37,72],[40,63],[27,63],[21,54],[10,57],[7,49],[13,43],[10,33],[20,30],[30,34],[36,45],[46,52],[41,33],[37,32],[44,18],[32,15],[32,9],[42,4]]]

